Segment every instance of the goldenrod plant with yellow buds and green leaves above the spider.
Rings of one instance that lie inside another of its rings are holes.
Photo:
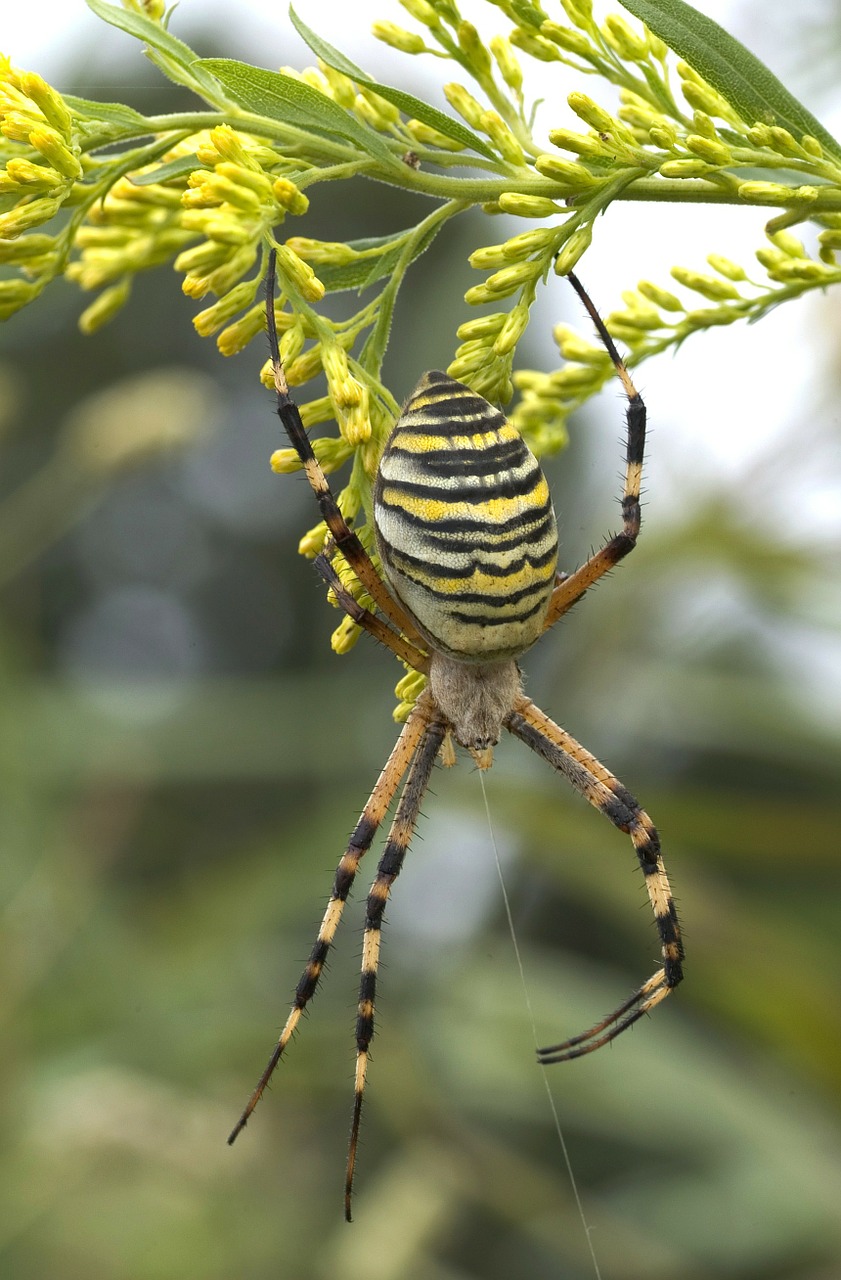
[[[371,479],[398,408],[380,378],[394,303],[412,264],[453,219],[479,207],[489,220],[522,220],[516,234],[470,256],[481,279],[465,302],[476,316],[458,326],[448,372],[502,404],[517,392],[509,416],[538,454],[563,445],[570,412],[612,366],[602,347],[563,325],[557,370],[516,369],[517,344],[539,288],[575,268],[614,201],[772,210],[753,275],[710,252],[703,269],[673,268],[677,292],[650,280],[623,292],[607,324],[629,366],[841,280],[841,145],[682,0],[627,0],[631,19],[603,22],[589,0],[561,0],[550,12],[489,0],[506,29],[488,42],[456,0],[399,3],[412,29],[383,20],[374,36],[410,58],[452,64],[440,106],[375,82],[293,9],[316,65],[268,70],[200,58],[169,31],[160,0],[87,0],[204,100],[200,110],[145,116],[61,95],[36,72],[0,64],[0,314],[64,275],[95,294],[79,319],[91,333],[124,306],[138,271],[172,264],[187,297],[207,300],[192,317],[197,332],[215,334],[230,356],[262,332],[261,283],[275,244],[287,378],[293,388],[326,378],[326,394],[305,401],[301,413],[307,428],[335,421],[334,435],[314,440],[316,457],[326,474],[351,463],[339,504],[369,549]],[[534,100],[535,61],[558,64],[558,96],[579,128],[556,127],[553,104]],[[593,77],[591,95],[566,95],[567,68]],[[311,188],[351,178],[425,196],[419,221],[342,239],[342,204],[333,201],[335,237],[307,236]],[[818,228],[817,256],[792,230],[799,223]],[[339,291],[361,303],[335,320],[323,301]],[[270,383],[268,364],[262,379]],[[292,449],[271,463],[300,467]],[[317,554],[325,536],[323,524],[311,529],[302,553]],[[342,576],[340,562],[337,570]],[[355,635],[346,620],[334,646]]]

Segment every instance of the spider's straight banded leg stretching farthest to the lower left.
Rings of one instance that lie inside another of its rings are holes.
[[[228,1138],[229,1144],[236,1142],[237,1137],[248,1123],[251,1112],[262,1097],[274,1069],[280,1061],[287,1044],[292,1039],[292,1036],[301,1021],[303,1010],[316,992],[328,952],[342,919],[344,904],[351,892],[351,887],[360,865],[360,860],[362,855],[367,852],[371,841],[374,840],[374,836],[376,835],[378,828],[388,813],[394,795],[397,794],[401,780],[410,767],[412,758],[416,755],[419,744],[424,740],[429,723],[430,703],[431,699],[429,694],[421,694],[413,710],[406,721],[406,724],[403,726],[401,736],[394,744],[392,754],[385,763],[385,768],[376,780],[376,785],[367,804],[365,805],[365,809],[362,810],[348,846],[342,854],[342,859],[335,872],[330,900],[326,905],[324,919],[321,920],[321,927],[310,954],[310,959],[307,960],[306,968],[301,974],[301,980],[296,988],[292,1010],[289,1011],[285,1025],[280,1032],[280,1037],[275,1044],[271,1057],[269,1059],[266,1069],[260,1076],[244,1111],[237,1120],[237,1124]]]

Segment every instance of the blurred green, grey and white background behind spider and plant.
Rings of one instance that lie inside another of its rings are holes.
[[[837,5],[704,10],[838,125]],[[326,0],[302,13],[401,74],[366,35],[397,5],[342,28]],[[198,0],[174,19],[202,54],[311,60],[275,5],[232,24]],[[184,105],[82,0],[4,13],[0,38],[68,91]],[[410,87],[437,70],[412,63]],[[544,86],[547,124],[568,87]],[[360,186],[342,214],[314,200],[306,233],[380,234],[417,207]],[[614,207],[580,274],[607,311],[673,262],[748,264],[763,220]],[[506,233],[477,218],[415,269],[398,396],[451,358],[466,256]],[[437,773],[389,911],[355,1225],[360,893],[225,1146],[394,739],[399,669],[365,643],[330,653],[337,616],[294,550],[308,492],[268,467],[262,349],[223,361],[168,271],[95,338],[79,310],[56,285],[0,333],[3,1274],[594,1275],[465,760]],[[586,332],[556,282],[522,364],[554,361],[561,319]],[[526,663],[530,694],[654,815],[686,924],[680,995],[548,1076],[605,1280],[841,1274],[840,349],[841,300],[812,296],[648,364],[640,547]],[[612,388],[549,465],[567,566],[617,524],[621,424]],[[557,1039],[652,970],[644,890],[630,842],[513,740],[488,791],[536,1034]]]

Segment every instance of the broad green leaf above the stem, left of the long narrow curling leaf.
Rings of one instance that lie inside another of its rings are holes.
[[[261,67],[250,67],[230,58],[202,58],[195,65],[210,72],[233,101],[246,111],[323,137],[335,134],[346,138],[366,155],[387,164],[389,169],[399,163],[374,129],[366,128],[338,102],[319,93],[303,81],[283,76],[280,72],[268,72]]]

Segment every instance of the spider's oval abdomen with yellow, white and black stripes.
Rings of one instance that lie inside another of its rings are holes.
[[[424,374],[383,452],[374,522],[388,582],[435,649],[493,662],[538,639],[558,558],[549,486],[481,396]]]

